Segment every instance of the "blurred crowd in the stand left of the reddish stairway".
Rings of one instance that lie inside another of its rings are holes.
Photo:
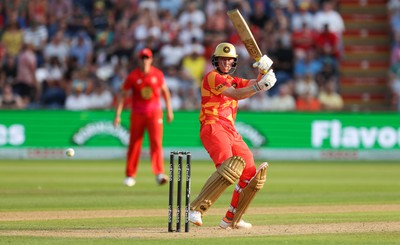
[[[343,108],[337,68],[344,23],[335,0],[0,0],[0,108],[112,108],[137,51],[149,47],[173,108],[197,110],[218,43],[237,47],[235,75],[257,72],[227,18],[234,8],[274,61],[278,79],[240,107]]]

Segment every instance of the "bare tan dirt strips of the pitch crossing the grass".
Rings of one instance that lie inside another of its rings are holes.
[[[400,211],[400,205],[298,206],[250,208],[252,214],[288,213],[345,213]],[[224,213],[225,209],[211,209],[209,215]],[[167,210],[90,210],[0,212],[0,222],[90,219],[117,217],[166,216]],[[254,226],[250,230],[223,230],[218,227],[191,227],[189,233],[168,233],[166,228],[73,229],[73,230],[1,230],[0,236],[40,236],[79,238],[202,238],[232,236],[276,236],[331,233],[400,232],[400,222],[349,222],[329,224],[295,224]]]

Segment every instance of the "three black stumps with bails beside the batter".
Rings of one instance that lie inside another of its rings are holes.
[[[169,203],[168,203],[168,232],[181,231],[181,206],[182,206],[182,169],[183,155],[186,155],[186,200],[185,200],[185,232],[189,232],[189,199],[190,199],[190,152],[172,151],[169,161]],[[176,205],[176,230],[173,230],[173,199],[174,199],[174,165],[175,156],[178,156],[177,170],[177,205]]]

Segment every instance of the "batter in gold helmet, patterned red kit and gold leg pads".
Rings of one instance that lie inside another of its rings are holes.
[[[232,44],[220,43],[211,60],[215,69],[207,73],[201,83],[200,138],[217,170],[190,204],[189,220],[197,226],[202,225],[202,216],[222,192],[238,181],[219,226],[223,229],[251,228],[250,223],[242,220],[242,215],[266,180],[268,164],[264,162],[256,170],[252,152],[235,129],[235,119],[239,100],[275,85],[276,77],[272,70],[261,74],[270,69],[272,60],[262,56],[253,64],[260,71],[258,77],[244,79],[231,76],[237,59]]]

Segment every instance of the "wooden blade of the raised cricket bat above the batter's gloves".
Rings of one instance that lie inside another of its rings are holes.
[[[253,36],[253,33],[246,23],[246,20],[243,18],[238,9],[229,10],[227,14],[237,33],[239,34],[244,46],[246,47],[250,57],[258,61],[261,58],[262,53],[258,47],[256,39]]]

